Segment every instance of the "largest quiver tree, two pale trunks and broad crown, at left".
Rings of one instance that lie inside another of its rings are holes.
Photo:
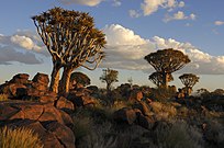
[[[51,90],[57,92],[59,69],[64,67],[61,90],[68,92],[74,69],[93,70],[104,57],[104,34],[94,27],[93,18],[79,11],[54,8],[32,18],[53,59]],[[90,65],[94,66],[90,68]]]

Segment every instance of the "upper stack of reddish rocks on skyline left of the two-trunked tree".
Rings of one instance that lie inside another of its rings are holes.
[[[48,76],[44,73],[37,73],[32,81],[29,75],[19,73],[0,86],[0,93],[12,100],[38,100],[38,96],[49,93],[48,82]]]

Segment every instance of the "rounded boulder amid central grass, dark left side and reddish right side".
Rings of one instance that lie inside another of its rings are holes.
[[[133,124],[136,119],[136,113],[132,109],[120,109],[119,111],[115,111],[113,114],[113,118],[117,122],[125,122],[127,124]]]

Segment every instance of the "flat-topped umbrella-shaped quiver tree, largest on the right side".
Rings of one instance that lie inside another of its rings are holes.
[[[190,62],[190,59],[187,55],[172,48],[150,53],[145,56],[144,59],[147,60],[157,72],[161,73],[161,87],[165,88],[168,86],[169,76]]]

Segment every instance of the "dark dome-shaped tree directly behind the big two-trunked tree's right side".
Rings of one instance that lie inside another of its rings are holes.
[[[72,72],[70,76],[70,88],[78,88],[78,86],[89,86],[91,83],[91,80],[89,77],[82,72]]]

